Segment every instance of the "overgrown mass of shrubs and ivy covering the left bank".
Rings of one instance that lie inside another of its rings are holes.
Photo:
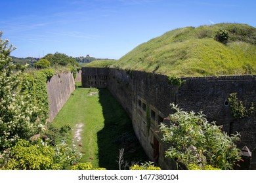
[[[66,145],[66,139],[53,142],[45,135],[49,132],[46,82],[53,70],[25,72],[27,65],[17,70],[10,57],[14,48],[1,35],[0,169],[66,169],[79,161],[80,154]]]

